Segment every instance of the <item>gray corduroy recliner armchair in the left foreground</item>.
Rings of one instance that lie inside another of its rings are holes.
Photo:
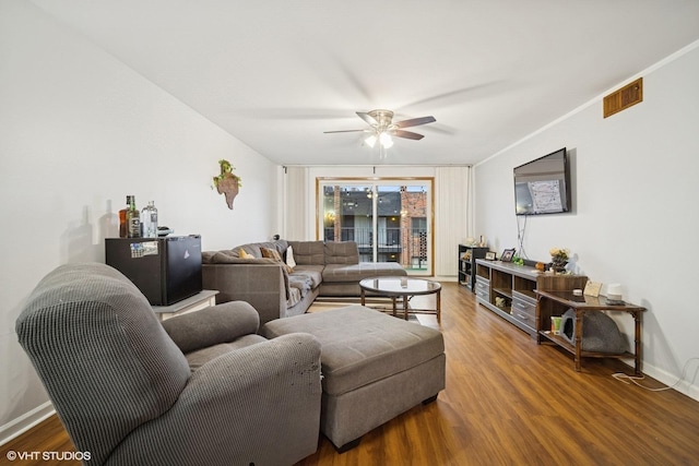
[[[258,325],[239,301],[161,324],[95,263],[49,273],[16,332],[87,464],[293,464],[318,446],[320,345]]]

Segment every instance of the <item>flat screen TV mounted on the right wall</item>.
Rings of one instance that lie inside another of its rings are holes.
[[[566,147],[514,167],[517,215],[570,211],[570,167]]]

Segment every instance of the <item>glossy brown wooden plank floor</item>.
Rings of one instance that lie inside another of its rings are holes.
[[[614,372],[632,373],[616,360],[587,359],[578,373],[570,355],[536,345],[457,284],[443,284],[441,299],[447,387],[437,402],[375,429],[344,454],[321,435],[316,454],[298,465],[699,464],[699,403],[615,380]],[[431,315],[419,320],[439,327]],[[73,451],[56,417],[0,447],[0,464],[9,450]]]

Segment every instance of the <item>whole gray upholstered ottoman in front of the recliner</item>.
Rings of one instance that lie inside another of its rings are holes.
[[[441,332],[351,306],[279,319],[261,334],[309,333],[321,344],[323,394],[320,430],[340,452],[363,434],[445,387]]]

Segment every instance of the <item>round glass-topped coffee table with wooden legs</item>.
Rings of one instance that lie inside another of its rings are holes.
[[[396,314],[396,301],[403,301],[403,316],[407,320],[408,313],[436,314],[437,322],[441,322],[441,285],[425,278],[412,277],[370,277],[359,282],[362,288],[362,306],[366,303],[366,292],[390,298],[393,302],[393,315]],[[436,309],[410,309],[408,301],[414,296],[436,295]]]

